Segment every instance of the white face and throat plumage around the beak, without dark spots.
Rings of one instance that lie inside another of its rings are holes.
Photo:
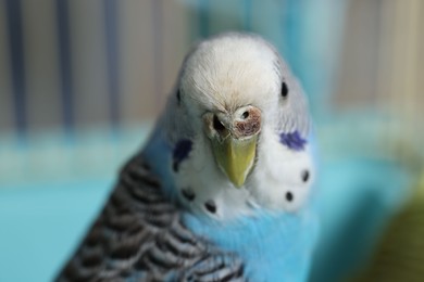
[[[291,88],[287,101],[280,97],[283,81]],[[312,183],[311,177],[303,181],[302,174],[314,176],[310,150],[289,150],[279,143],[278,133],[295,129],[308,133],[308,107],[300,85],[271,44],[238,34],[203,41],[187,57],[179,89],[182,104],[176,99],[167,104],[165,131],[171,143],[180,138],[194,142],[189,157],[173,174],[178,192],[190,189],[196,194],[187,201],[178,193],[183,204],[220,220],[254,215],[258,208],[287,213],[301,208]],[[254,167],[245,185],[236,189],[216,166],[201,116],[246,105],[261,110],[262,128]],[[205,207],[211,200],[215,213]]]

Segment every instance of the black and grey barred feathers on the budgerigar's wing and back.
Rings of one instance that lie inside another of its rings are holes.
[[[245,281],[242,261],[186,229],[141,155],[57,281]]]

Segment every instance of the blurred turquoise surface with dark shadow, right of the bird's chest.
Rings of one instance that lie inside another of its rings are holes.
[[[328,162],[320,172],[321,236],[310,281],[345,281],[366,264],[407,201],[412,176],[395,162],[366,157]]]

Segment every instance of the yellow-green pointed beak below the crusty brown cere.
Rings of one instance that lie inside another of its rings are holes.
[[[251,168],[257,152],[258,136],[238,140],[228,136],[222,142],[212,140],[212,151],[219,167],[236,188],[240,188]]]

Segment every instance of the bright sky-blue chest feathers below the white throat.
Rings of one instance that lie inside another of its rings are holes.
[[[249,281],[305,281],[316,239],[310,208],[298,214],[267,214],[237,222],[216,222],[185,214],[185,225],[245,261]]]

